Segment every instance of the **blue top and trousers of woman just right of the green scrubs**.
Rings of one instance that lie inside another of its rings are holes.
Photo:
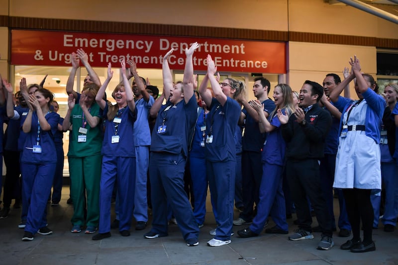
[[[116,181],[119,198],[119,231],[130,230],[134,207],[135,149],[133,125],[136,110],[128,106],[119,109],[112,121],[106,117],[108,104],[103,109],[105,135],[103,137],[102,170],[100,180],[100,233],[110,231],[110,203]]]

